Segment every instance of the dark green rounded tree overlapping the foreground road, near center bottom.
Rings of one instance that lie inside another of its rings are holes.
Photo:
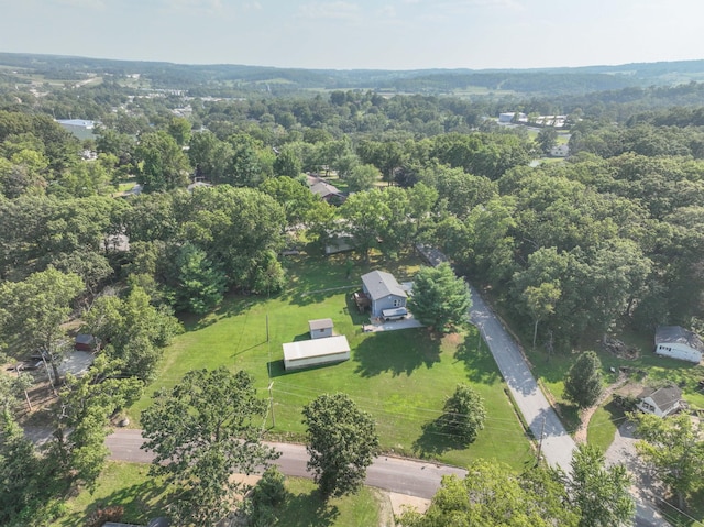
[[[345,394],[321,395],[304,407],[308,470],[323,496],[356,492],[378,449],[376,424]]]

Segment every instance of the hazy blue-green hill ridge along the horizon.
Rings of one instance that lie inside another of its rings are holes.
[[[22,74],[22,75],[20,75]],[[704,61],[624,64],[543,69],[301,69],[228,64],[186,65],[161,62],[0,53],[0,81],[80,80],[87,74],[139,75],[153,88],[191,90],[208,85],[242,90],[372,89],[403,94],[583,95],[627,87],[675,86],[704,81]]]

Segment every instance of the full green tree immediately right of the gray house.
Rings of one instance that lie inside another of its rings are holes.
[[[408,307],[418,320],[436,331],[447,332],[464,325],[471,306],[470,290],[450,264],[421,267],[416,274]]]

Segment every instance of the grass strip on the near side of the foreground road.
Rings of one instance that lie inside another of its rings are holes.
[[[86,525],[87,519],[99,507],[121,505],[124,515],[121,521],[146,525],[158,516],[167,516],[165,486],[158,479],[147,475],[148,465],[138,463],[108,462],[98,480],[94,494],[81,490],[68,501],[69,513],[53,524],[53,527]],[[380,525],[381,493],[363,487],[359,493],[324,501],[317,485],[306,479],[287,477],[288,501],[282,506],[279,518],[290,527],[355,527]]]

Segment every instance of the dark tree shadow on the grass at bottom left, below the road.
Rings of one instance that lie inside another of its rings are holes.
[[[144,469],[147,470],[146,468]],[[148,480],[131,485],[96,499],[85,510],[72,513],[62,519],[61,525],[86,525],[90,515],[98,508],[113,505],[124,507],[123,523],[146,525],[152,518],[166,516],[167,484],[158,480]]]

